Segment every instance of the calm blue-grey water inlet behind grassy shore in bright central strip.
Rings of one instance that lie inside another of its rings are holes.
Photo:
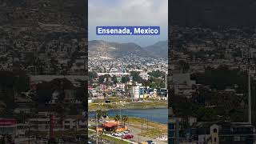
[[[150,121],[167,124],[168,109],[134,109],[134,110],[109,110],[108,116],[113,117],[116,114],[127,115],[129,117],[148,118]],[[95,117],[95,112],[89,112],[89,118]]]

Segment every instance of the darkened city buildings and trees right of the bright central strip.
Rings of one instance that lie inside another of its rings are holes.
[[[172,26],[173,143],[254,143],[253,30]],[[175,121],[175,119],[178,119]]]

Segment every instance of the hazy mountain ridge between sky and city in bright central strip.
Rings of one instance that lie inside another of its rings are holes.
[[[138,57],[167,58],[167,40],[159,41],[150,46],[139,46],[134,42],[106,42],[103,40],[91,40],[88,42],[90,56],[104,56],[121,58],[126,55]],[[160,48],[160,49],[158,49]]]

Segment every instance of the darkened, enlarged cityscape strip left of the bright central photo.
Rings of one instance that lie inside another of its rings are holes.
[[[0,141],[84,141],[86,2],[0,7]]]

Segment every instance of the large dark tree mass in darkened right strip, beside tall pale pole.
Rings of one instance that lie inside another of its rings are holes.
[[[204,73],[192,74],[199,87],[193,98],[180,95],[171,97],[172,107],[176,115],[192,115],[201,122],[230,121],[246,122],[247,75],[241,70],[230,70],[227,66],[217,69],[206,68]],[[235,92],[227,92],[226,88]]]

